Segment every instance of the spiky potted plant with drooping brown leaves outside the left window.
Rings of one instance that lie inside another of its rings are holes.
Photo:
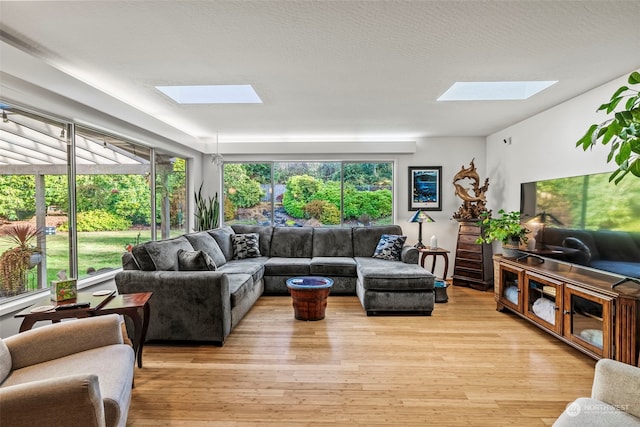
[[[31,224],[14,224],[3,236],[17,246],[0,255],[0,280],[3,296],[19,295],[25,291],[27,271],[40,262],[40,253],[33,244],[42,230]]]

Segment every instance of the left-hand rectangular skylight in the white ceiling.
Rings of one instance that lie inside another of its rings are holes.
[[[262,104],[251,85],[156,86],[178,104]]]

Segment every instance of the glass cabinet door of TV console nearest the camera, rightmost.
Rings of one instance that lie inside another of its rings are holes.
[[[563,311],[565,337],[598,356],[612,357],[611,306],[612,300],[603,295],[567,285]]]

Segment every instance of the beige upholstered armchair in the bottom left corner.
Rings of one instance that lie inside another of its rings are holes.
[[[118,315],[0,340],[0,425],[125,426],[133,349]]]

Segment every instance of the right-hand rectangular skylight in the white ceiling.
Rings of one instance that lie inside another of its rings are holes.
[[[532,82],[455,82],[438,101],[512,101],[532,97],[553,81]]]

